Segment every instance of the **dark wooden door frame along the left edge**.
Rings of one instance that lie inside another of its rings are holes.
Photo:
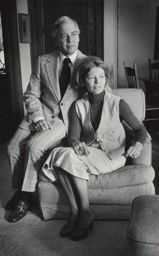
[[[24,117],[16,0],[0,1],[6,79],[11,102],[11,136]]]

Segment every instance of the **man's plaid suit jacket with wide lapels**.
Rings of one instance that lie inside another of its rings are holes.
[[[78,50],[75,64],[84,57],[85,55]],[[23,95],[28,113],[20,123],[20,128],[35,131],[35,125],[32,119],[43,116],[46,121],[51,122],[61,110],[68,134],[68,128],[71,124],[71,105],[82,97],[82,92],[72,88],[71,78],[68,88],[61,99],[59,61],[59,51],[42,55],[37,59],[37,64],[35,65],[34,71],[31,73],[27,90]]]

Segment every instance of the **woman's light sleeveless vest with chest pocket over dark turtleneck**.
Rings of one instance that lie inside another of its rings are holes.
[[[82,123],[80,141],[90,145],[97,140],[102,151],[112,160],[125,152],[125,130],[119,119],[120,99],[111,93],[105,93],[102,115],[96,132],[90,121],[88,96],[75,103],[77,115]]]

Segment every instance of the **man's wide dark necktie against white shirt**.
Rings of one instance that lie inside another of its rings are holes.
[[[68,66],[70,62],[71,62],[70,58],[65,58],[63,61],[63,67],[61,70],[60,81],[59,81],[61,98],[63,97],[71,79],[71,70],[70,70],[70,67]]]

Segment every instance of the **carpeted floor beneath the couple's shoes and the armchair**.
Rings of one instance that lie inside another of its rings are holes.
[[[159,135],[151,136],[153,167],[157,170]],[[157,194],[158,180],[156,173]],[[88,238],[75,242],[59,236],[65,220],[41,220],[36,193],[34,205],[25,218],[17,223],[7,222],[10,212],[4,209],[4,204],[11,196],[11,174],[4,143],[0,146],[0,256],[128,256],[128,221],[94,221]]]

